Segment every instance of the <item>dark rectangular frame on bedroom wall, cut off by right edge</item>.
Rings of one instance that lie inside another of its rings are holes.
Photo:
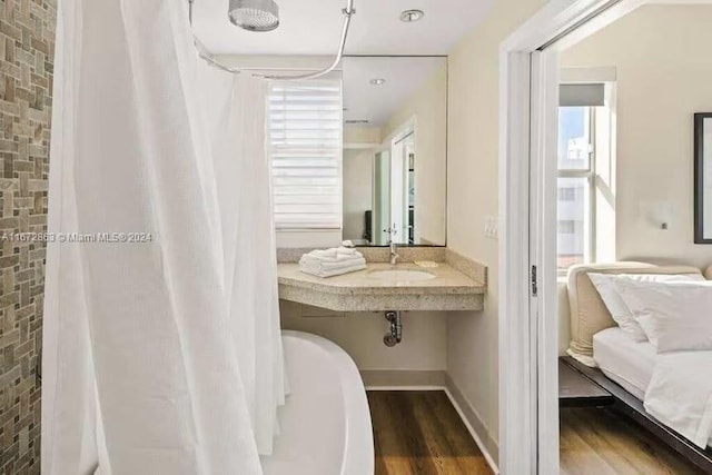
[[[694,115],[694,241],[712,244],[712,112]]]

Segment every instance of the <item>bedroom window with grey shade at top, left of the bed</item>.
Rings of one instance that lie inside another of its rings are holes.
[[[557,246],[558,270],[565,275],[573,265],[597,260],[602,240],[610,241],[602,249],[614,246],[615,234],[602,224],[604,212],[596,212],[601,186],[611,181],[613,136],[606,85],[562,85],[560,92]]]

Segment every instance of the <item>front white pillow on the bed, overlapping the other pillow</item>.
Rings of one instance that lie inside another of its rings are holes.
[[[619,288],[657,353],[712,349],[712,283],[621,277]]]

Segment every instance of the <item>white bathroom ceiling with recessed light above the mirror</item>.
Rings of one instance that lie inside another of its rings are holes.
[[[187,2],[187,0],[184,0]],[[227,18],[229,0],[195,0],[194,30],[216,55],[330,55],[342,33],[346,0],[276,0],[279,28],[249,32]],[[447,55],[493,0],[355,0],[347,55]],[[425,11],[404,23],[400,12]]]

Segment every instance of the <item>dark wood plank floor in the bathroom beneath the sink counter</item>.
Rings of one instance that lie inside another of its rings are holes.
[[[376,475],[492,474],[443,392],[369,392]]]

